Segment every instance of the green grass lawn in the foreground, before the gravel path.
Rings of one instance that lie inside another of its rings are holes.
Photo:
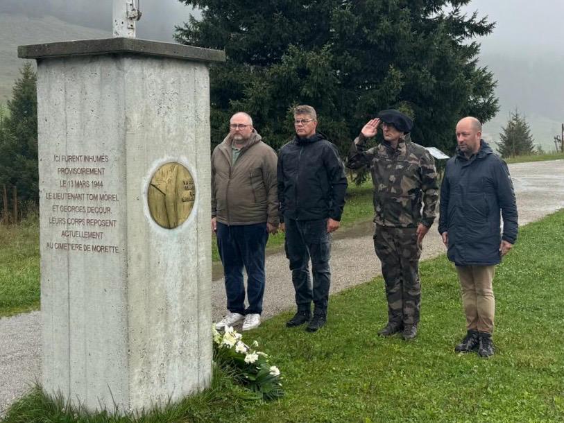
[[[245,336],[247,343],[258,340],[282,370],[286,396],[280,401],[250,402],[220,372],[214,389],[139,421],[564,421],[562,245],[564,210],[521,228],[495,275],[497,350],[490,359],[454,353],[465,319],[456,273],[443,255],[420,266],[416,340],[377,336],[386,322],[383,282],[377,277],[333,295],[327,326],[315,334],[284,327],[291,316],[284,313]],[[44,401],[35,391],[5,421],[78,421],[71,411]]]

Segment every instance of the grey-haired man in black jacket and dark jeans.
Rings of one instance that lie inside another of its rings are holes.
[[[287,326],[309,322],[307,331],[313,332],[327,320],[331,233],[339,229],[347,178],[336,147],[316,132],[313,107],[300,105],[294,109],[294,127],[296,137],[280,149],[277,169],[280,230],[286,232],[284,247],[298,306]]]

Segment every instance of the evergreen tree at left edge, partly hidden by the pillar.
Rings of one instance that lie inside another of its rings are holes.
[[[20,204],[28,200],[37,204],[37,78],[30,62],[20,74],[0,128],[0,186],[16,187]]]

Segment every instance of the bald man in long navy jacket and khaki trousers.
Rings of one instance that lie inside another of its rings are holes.
[[[515,192],[505,162],[481,139],[481,123],[465,117],[456,125],[458,148],[441,185],[438,232],[454,261],[462,289],[468,333],[456,352],[492,356],[495,265],[517,239]],[[503,217],[500,233],[499,210]]]

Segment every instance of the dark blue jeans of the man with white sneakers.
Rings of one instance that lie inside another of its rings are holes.
[[[264,248],[268,240],[266,223],[228,226],[218,222],[216,236],[225,274],[227,309],[239,314],[262,313]],[[247,270],[247,309],[243,266]]]

